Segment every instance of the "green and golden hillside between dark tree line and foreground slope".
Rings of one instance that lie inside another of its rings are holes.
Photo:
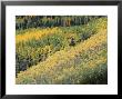
[[[45,61],[55,52],[69,51],[104,30],[106,30],[106,18],[94,19],[80,26],[17,30],[16,75]],[[71,38],[74,39],[74,47],[70,46]]]

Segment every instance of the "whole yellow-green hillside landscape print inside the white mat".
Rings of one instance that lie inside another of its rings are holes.
[[[16,19],[17,85],[108,83],[106,17]]]

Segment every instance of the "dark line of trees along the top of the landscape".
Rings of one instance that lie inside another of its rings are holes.
[[[71,27],[103,16],[16,16],[16,29]]]

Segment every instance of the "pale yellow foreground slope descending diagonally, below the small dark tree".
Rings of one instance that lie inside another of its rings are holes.
[[[105,26],[105,24],[104,24]],[[18,85],[106,83],[106,29],[103,28],[70,49],[61,49],[44,61],[20,71]]]

